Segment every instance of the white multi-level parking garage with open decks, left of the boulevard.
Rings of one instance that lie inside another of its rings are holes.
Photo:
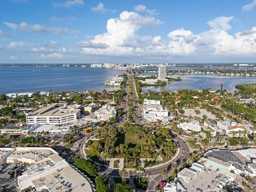
[[[54,103],[26,114],[27,124],[66,124],[77,121],[81,115],[77,106]]]

